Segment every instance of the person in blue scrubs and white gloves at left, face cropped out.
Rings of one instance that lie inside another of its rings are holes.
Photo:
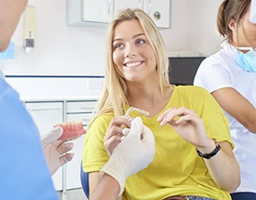
[[[0,0],[0,52],[7,49],[27,3],[28,0]],[[92,200],[116,198],[123,190],[120,182],[152,162],[155,138],[142,127],[141,120],[135,120],[126,139],[115,147],[102,169],[101,184]],[[61,134],[62,128],[56,127],[40,139],[19,94],[7,84],[0,70],[0,199],[58,200],[51,175],[74,155],[68,153],[73,143],[58,140]],[[130,144],[134,151],[128,151]]]

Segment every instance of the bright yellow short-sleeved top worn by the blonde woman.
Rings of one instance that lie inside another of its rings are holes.
[[[231,140],[228,121],[219,104],[202,87],[174,87],[166,108],[186,107],[194,110],[204,122],[209,138],[218,141]],[[125,110],[128,110],[128,106]],[[159,200],[170,195],[200,195],[218,200],[231,199],[229,193],[212,180],[203,158],[195,152],[195,146],[183,140],[170,126],[160,127],[155,117],[141,116],[143,124],[155,135],[155,158],[149,167],[132,175],[126,182],[122,199]],[[103,146],[103,138],[113,114],[96,118],[85,140],[83,167],[85,171],[99,171],[109,159]]]

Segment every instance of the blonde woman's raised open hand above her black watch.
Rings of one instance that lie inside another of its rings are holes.
[[[212,140],[207,136],[203,120],[192,110],[181,108],[170,108],[161,113],[157,119],[160,126],[167,123],[173,127],[182,139],[194,144],[195,147],[205,147]]]

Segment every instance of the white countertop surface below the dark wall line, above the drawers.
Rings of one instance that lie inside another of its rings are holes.
[[[15,76],[6,80],[22,101],[98,100],[103,87],[99,76]]]

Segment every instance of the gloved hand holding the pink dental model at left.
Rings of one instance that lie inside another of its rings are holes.
[[[60,139],[63,130],[54,127],[41,138],[42,148],[47,160],[47,167],[53,175],[59,167],[72,160],[74,153],[67,153],[73,149],[74,143]]]

